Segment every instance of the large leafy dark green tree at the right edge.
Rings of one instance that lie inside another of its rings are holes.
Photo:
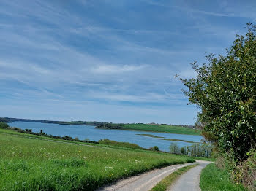
[[[200,108],[198,122],[206,139],[233,159],[246,158],[256,141],[256,26],[246,26],[227,55],[207,55],[208,63],[192,68],[197,77],[181,79],[190,104]]]

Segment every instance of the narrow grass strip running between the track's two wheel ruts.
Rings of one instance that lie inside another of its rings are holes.
[[[152,188],[152,191],[165,191],[168,187],[176,180],[179,176],[189,171],[189,169],[194,168],[196,165],[187,165],[182,168],[179,168],[177,171],[174,171],[169,176],[166,176],[165,179],[162,179],[155,187]]]

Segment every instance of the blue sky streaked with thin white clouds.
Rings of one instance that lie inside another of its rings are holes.
[[[0,1],[0,117],[193,124],[189,63],[225,53],[256,1]]]

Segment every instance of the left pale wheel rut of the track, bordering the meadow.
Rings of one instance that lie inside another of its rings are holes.
[[[128,179],[123,179],[119,182],[116,182],[115,184],[99,188],[97,191],[148,191],[151,190],[163,178],[165,178],[165,176],[186,165],[192,164],[170,165],[165,168],[156,169],[154,171],[149,171],[138,176],[132,176]]]

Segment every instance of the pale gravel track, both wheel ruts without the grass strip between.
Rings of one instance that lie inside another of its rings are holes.
[[[169,187],[168,190],[172,191],[199,191],[199,181],[200,181],[200,172],[211,162],[196,160],[196,163],[199,165],[195,168],[190,169],[185,174],[173,184],[172,187]],[[140,174],[138,176],[132,176],[127,179],[122,179],[114,184],[107,185],[105,187],[99,188],[97,191],[148,191],[151,190],[158,182],[187,165],[194,165],[195,163],[187,163],[181,165],[170,165],[165,168],[155,169],[153,171]]]

